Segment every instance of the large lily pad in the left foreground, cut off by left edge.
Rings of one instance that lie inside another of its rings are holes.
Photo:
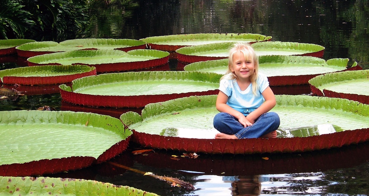
[[[71,111],[1,111],[0,175],[42,175],[88,167],[127,148],[117,118]]]

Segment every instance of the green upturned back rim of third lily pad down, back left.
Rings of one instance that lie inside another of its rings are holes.
[[[148,50],[148,49],[135,49],[130,50],[128,52],[124,52],[122,50],[72,50],[67,52],[56,52],[51,54],[44,54],[38,56],[32,56],[27,59],[27,61],[31,63],[41,63],[41,62],[50,62],[54,59],[65,59],[69,57],[77,58],[77,57],[91,57],[91,56],[111,56],[114,57],[122,57],[126,56],[151,56],[157,59],[169,56],[169,52],[161,51],[161,50]]]

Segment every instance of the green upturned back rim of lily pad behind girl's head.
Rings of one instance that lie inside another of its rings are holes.
[[[313,56],[288,56],[288,55],[265,55],[259,56],[259,66],[262,67],[263,64],[267,63],[279,63],[279,64],[296,64],[296,65],[315,65],[317,67],[320,66],[331,66],[331,67],[340,67],[345,69],[347,66],[349,59],[329,59],[327,62],[324,59],[313,57]],[[200,61],[195,63],[190,63],[184,66],[185,71],[201,71],[204,69],[211,69],[215,67],[228,67],[228,59],[219,59],[219,60],[207,60]],[[276,69],[278,66],[275,66]],[[283,74],[283,73],[281,73]]]

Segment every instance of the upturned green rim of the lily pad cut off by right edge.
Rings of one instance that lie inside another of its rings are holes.
[[[369,78],[369,70],[354,70],[354,71],[342,71],[336,73],[327,73],[316,76],[309,80],[309,84],[320,89],[324,84],[348,81],[355,79]],[[320,89],[323,91],[323,89]]]

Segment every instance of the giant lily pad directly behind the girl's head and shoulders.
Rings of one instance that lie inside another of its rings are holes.
[[[308,84],[308,80],[320,74],[347,70],[349,59],[324,59],[312,56],[259,56],[259,71],[268,77],[270,86]],[[188,64],[186,71],[202,71],[225,74],[228,59],[208,60]],[[361,69],[355,62],[350,70]]]

